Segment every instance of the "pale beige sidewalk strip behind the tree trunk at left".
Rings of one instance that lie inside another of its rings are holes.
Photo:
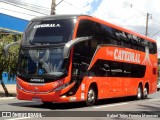
[[[16,94],[16,84],[6,84],[6,88],[10,94]],[[0,85],[0,93],[4,93],[4,90],[1,85]]]

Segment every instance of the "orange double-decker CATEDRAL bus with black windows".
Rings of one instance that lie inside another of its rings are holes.
[[[157,90],[156,41],[91,16],[32,19],[18,63],[19,100],[94,105]]]

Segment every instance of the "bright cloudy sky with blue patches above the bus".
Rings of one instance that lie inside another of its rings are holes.
[[[36,16],[49,15],[51,2],[0,0],[0,13],[30,20]],[[56,0],[56,5],[56,14],[87,14],[143,35],[149,13],[148,36],[157,41],[160,57],[160,0]],[[32,12],[26,8],[32,9]]]

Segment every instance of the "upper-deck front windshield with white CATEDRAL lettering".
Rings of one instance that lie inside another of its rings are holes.
[[[66,43],[71,39],[74,19],[33,21],[28,26],[23,45]]]

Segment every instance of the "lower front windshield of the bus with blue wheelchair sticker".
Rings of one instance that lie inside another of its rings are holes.
[[[22,49],[19,74],[27,77],[61,77],[67,74],[63,59],[64,47]]]

